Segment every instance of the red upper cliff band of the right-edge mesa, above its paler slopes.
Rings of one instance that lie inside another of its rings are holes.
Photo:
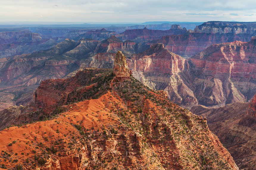
[[[189,60],[206,75],[256,78],[255,40],[215,44]],[[191,67],[192,67],[191,66]]]

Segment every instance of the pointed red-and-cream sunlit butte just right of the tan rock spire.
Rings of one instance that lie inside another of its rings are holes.
[[[168,51],[163,44],[154,44],[132,55],[127,63],[135,78],[153,89],[166,91],[171,101],[185,105],[196,104],[187,61]]]

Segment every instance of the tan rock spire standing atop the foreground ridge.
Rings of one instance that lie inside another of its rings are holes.
[[[114,61],[114,76],[116,78],[129,78],[130,70],[126,62],[124,54],[118,51],[115,55]]]

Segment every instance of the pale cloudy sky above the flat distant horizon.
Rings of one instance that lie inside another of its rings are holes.
[[[0,0],[0,22],[256,21],[255,0]]]

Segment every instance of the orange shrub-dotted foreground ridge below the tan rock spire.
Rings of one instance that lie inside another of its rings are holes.
[[[42,83],[41,89],[49,90],[45,100],[55,101],[46,108],[34,105],[36,112],[20,117],[43,121],[0,132],[1,168],[238,170],[202,117],[172,103],[163,91],[133,77],[112,81],[112,71],[103,70],[86,69],[69,78],[77,81],[74,90],[65,83],[69,79]],[[71,91],[63,94],[66,89]],[[53,91],[62,93],[59,100]]]

